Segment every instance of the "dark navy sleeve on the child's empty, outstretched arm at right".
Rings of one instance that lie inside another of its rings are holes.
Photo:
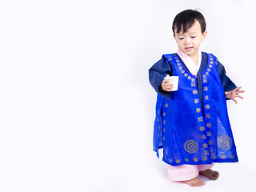
[[[237,86],[230,80],[228,76],[226,76],[225,67],[221,62],[218,62],[218,74],[222,80],[222,86],[224,91],[234,90]]]

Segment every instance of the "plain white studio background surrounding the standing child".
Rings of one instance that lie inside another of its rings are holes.
[[[228,102],[240,162],[194,189],[152,150],[148,69],[177,50],[174,16],[197,8],[202,50],[246,94]],[[0,191],[254,191],[254,18],[252,0],[1,1]]]

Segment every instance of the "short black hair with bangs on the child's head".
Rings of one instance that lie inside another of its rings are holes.
[[[174,18],[172,27],[174,35],[175,32],[179,33],[181,30],[183,33],[186,33],[186,31],[193,26],[194,20],[197,20],[200,23],[203,34],[206,31],[206,20],[203,15],[198,10],[183,10]]]

